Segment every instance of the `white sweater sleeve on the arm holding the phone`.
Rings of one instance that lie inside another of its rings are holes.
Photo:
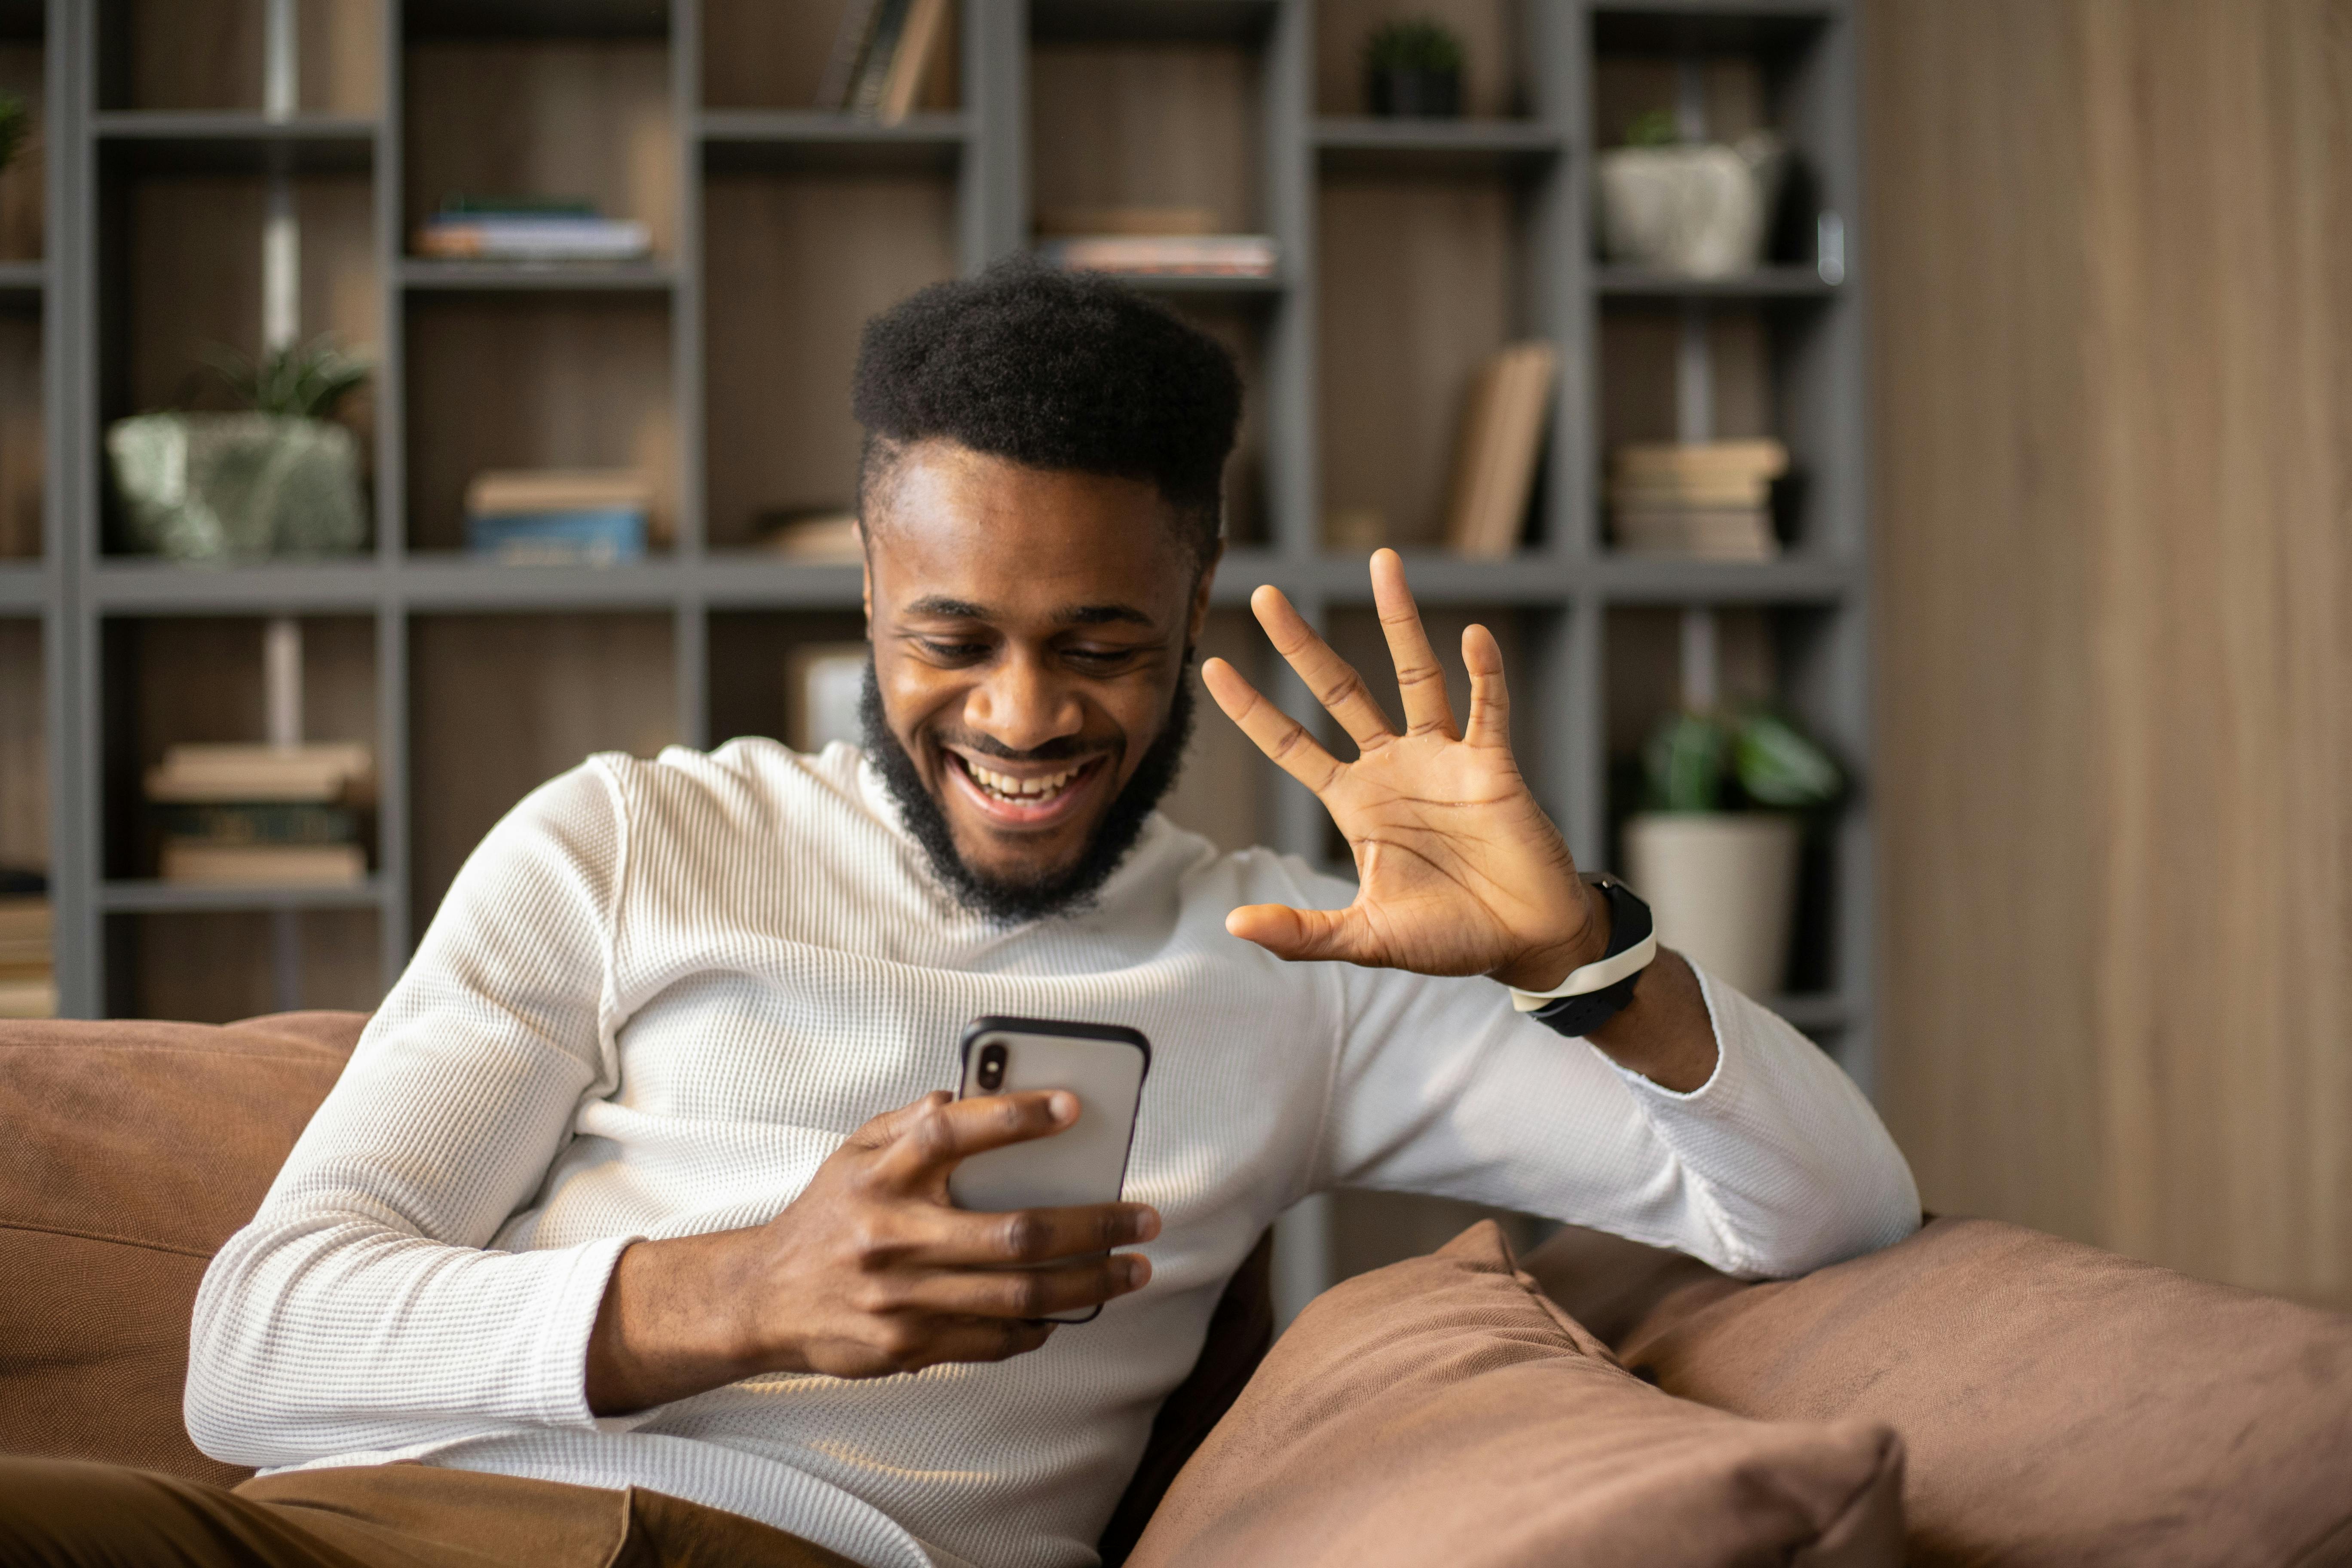
[[[619,783],[588,762],[466,860],[254,1220],[195,1300],[186,1420],[230,1465],[590,1427],[628,1237],[485,1251],[614,1086]]]

